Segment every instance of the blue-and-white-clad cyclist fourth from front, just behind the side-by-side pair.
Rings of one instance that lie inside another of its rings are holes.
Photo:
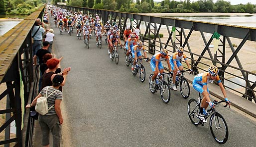
[[[146,55],[146,49],[143,46],[143,43],[141,41],[139,41],[137,43],[137,45],[135,45],[135,46],[133,46],[131,48],[131,54],[132,54],[132,57],[134,58],[134,61],[133,61],[132,65],[131,65],[131,71],[134,70],[134,65],[135,65],[135,62],[137,61],[137,57],[138,58],[142,58],[142,55],[141,55],[141,52],[140,52],[141,50],[143,51],[144,57],[147,58],[146,61],[148,62],[148,57]]]

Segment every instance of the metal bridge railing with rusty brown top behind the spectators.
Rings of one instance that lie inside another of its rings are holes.
[[[10,143],[15,147],[31,147],[33,120],[25,105],[36,95],[38,82],[38,68],[33,69],[32,65],[31,29],[35,19],[42,18],[43,10],[44,6],[0,37],[0,84],[6,84],[0,100],[7,99],[6,109],[0,110],[6,116],[0,126],[0,133],[5,131],[4,140],[0,141],[4,147]],[[15,121],[16,136],[10,139],[12,121]]]

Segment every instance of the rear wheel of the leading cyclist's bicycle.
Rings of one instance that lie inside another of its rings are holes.
[[[200,118],[198,117],[199,114],[199,103],[194,98],[189,99],[188,101],[188,116],[191,122],[198,126],[200,124]]]

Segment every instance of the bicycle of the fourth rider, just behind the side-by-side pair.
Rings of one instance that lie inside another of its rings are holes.
[[[137,61],[136,61],[136,65],[134,67],[134,70],[131,71],[134,76],[136,76],[136,74],[139,73],[139,80],[141,82],[144,82],[145,78],[146,78],[145,67],[142,65],[142,60],[143,59],[148,60],[148,58],[138,58]]]

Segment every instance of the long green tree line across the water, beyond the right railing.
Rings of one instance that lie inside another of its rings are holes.
[[[53,3],[65,0],[53,0]],[[67,0],[67,5],[83,6],[96,9],[109,9],[131,13],[184,13],[184,12],[229,12],[229,13],[256,13],[256,5],[237,4],[230,1],[217,0]]]

